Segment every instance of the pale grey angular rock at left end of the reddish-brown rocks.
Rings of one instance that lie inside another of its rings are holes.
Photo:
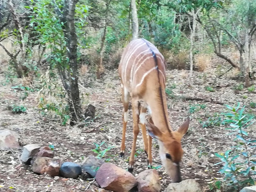
[[[21,161],[26,165],[30,165],[32,158],[39,151],[39,148],[40,146],[38,144],[30,144],[23,146]]]

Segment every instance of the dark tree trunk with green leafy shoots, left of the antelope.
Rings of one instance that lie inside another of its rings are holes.
[[[69,57],[69,65],[71,69],[71,76],[69,79],[69,90],[68,94],[70,97],[69,108],[72,115],[73,124],[74,122],[80,121],[81,114],[81,103],[79,97],[79,89],[78,89],[78,63],[77,63],[77,35],[75,32],[75,5],[76,0],[70,0],[69,2],[69,14],[68,14],[68,22],[69,22],[69,44],[68,44],[68,57]]]

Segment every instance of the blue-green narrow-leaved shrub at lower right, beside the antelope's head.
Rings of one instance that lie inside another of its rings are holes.
[[[246,128],[255,122],[255,117],[245,114],[245,106],[240,109],[240,103],[237,106],[230,107],[229,113],[225,113],[225,123],[229,123],[227,128],[231,131],[228,135],[234,135],[235,146],[231,146],[224,154],[215,155],[220,158],[221,162],[215,164],[224,164],[220,173],[224,175],[224,183],[228,189],[239,190],[247,185],[255,185],[253,176],[256,175],[256,140],[251,140]]]

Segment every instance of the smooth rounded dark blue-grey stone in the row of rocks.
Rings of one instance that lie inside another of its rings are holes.
[[[81,166],[73,162],[64,162],[60,167],[60,175],[66,178],[77,178],[82,174]]]

